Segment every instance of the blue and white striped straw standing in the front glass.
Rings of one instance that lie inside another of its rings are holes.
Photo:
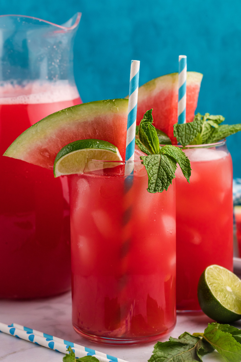
[[[140,61],[132,60],[130,64],[130,87],[129,87],[128,118],[127,118],[127,131],[126,131],[126,149],[125,149],[126,161],[134,160],[139,69],[140,69]],[[125,175],[132,173],[133,169],[134,169],[134,164],[132,162],[127,162],[125,164]]]

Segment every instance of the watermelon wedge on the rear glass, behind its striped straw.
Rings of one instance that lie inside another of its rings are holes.
[[[186,79],[186,121],[193,121],[197,108],[198,94],[203,75],[197,72],[187,72]],[[163,75],[143,84],[138,91],[137,125],[143,114],[153,108],[154,126],[165,132],[173,144],[173,125],[177,122],[178,104],[178,73]]]

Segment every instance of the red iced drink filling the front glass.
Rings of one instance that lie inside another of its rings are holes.
[[[148,193],[139,166],[127,193],[120,175],[69,178],[73,325],[95,341],[156,340],[176,322],[175,185]]]

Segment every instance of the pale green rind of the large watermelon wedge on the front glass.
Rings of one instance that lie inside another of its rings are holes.
[[[105,117],[107,115],[127,115],[128,100],[117,98],[113,100],[94,101],[82,103],[65,108],[48,115],[24,131],[5,151],[4,156],[28,161],[30,152],[34,152],[37,146],[41,146],[46,140],[53,139],[53,135],[59,130],[68,127],[73,122],[86,122],[94,117]],[[53,142],[53,140],[52,140]],[[58,139],[56,139],[58,142]],[[66,144],[69,143],[68,141]],[[59,150],[65,146],[61,144]],[[56,152],[57,154],[57,152]]]

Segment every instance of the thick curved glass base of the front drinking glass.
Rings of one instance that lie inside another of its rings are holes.
[[[166,334],[168,334],[169,332],[171,332],[174,327],[176,325],[173,324],[173,326],[169,329],[166,329],[163,333],[160,333],[158,335],[155,336],[143,336],[143,337],[135,337],[135,338],[112,338],[112,337],[101,337],[101,336],[95,336],[94,334],[89,334],[86,332],[81,331],[81,329],[74,327],[74,330],[81,335],[81,337],[85,337],[88,340],[92,341],[92,342],[97,342],[97,343],[103,343],[106,345],[114,345],[114,346],[133,346],[133,345],[137,345],[137,344],[144,344],[144,343],[150,343],[153,341],[157,341],[160,338],[165,337]]]

